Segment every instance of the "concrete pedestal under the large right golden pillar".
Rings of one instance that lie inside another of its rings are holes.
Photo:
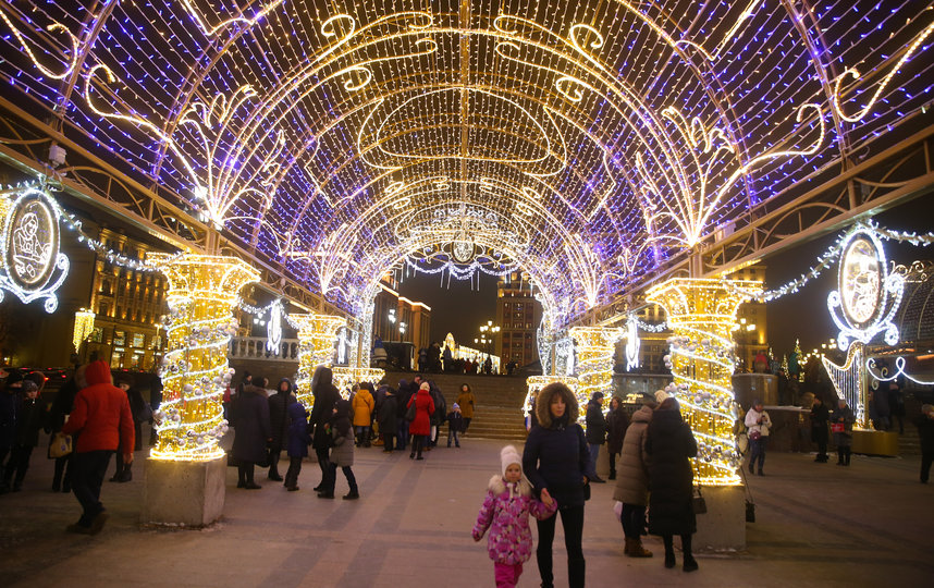
[[[706,513],[697,515],[692,547],[698,553],[746,549],[746,491],[741,486],[704,487]]]

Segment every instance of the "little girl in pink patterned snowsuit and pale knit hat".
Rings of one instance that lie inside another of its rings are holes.
[[[503,448],[500,462],[502,474],[490,478],[472,535],[474,540],[479,541],[490,529],[487,550],[493,560],[496,586],[514,587],[519,581],[523,564],[532,556],[529,514],[544,520],[554,515],[557,503],[548,495],[544,502],[532,495],[529,482],[523,477],[521,457],[516,448]]]

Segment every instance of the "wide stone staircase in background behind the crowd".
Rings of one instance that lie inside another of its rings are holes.
[[[392,385],[400,380],[410,380],[414,372],[388,372],[386,378]],[[521,414],[526,400],[525,378],[518,376],[467,376],[452,373],[426,373],[426,379],[433,380],[441,388],[447,408],[460,393],[460,384],[467,383],[474,392],[476,409],[467,438],[502,439],[506,441],[525,441],[526,425]],[[442,428],[446,437],[447,425]]]

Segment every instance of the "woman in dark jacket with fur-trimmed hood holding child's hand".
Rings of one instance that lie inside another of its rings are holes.
[[[583,537],[585,487],[597,477],[580,416],[577,399],[567,385],[553,382],[536,399],[539,425],[532,427],[523,452],[523,470],[542,499],[557,502],[567,548],[567,576],[572,588],[585,584],[586,561],[581,548]],[[543,587],[554,586],[552,542],[555,519],[539,520],[539,544],[536,560]]]

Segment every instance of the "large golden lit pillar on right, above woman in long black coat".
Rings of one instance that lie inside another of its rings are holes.
[[[733,426],[741,408],[733,393],[732,331],[739,305],[762,291],[762,282],[678,278],[647,292],[667,314],[673,331],[671,366],[675,396],[698,442],[695,481],[740,483]]]

